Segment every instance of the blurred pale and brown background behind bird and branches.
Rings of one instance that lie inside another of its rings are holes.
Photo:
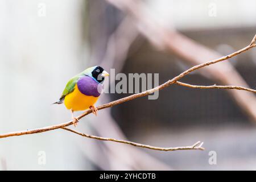
[[[253,0],[0,0],[0,133],[69,121],[64,105],[51,103],[87,67],[159,73],[161,84],[243,48],[256,32],[255,7]],[[182,81],[255,89],[255,69],[252,49]],[[104,94],[97,105],[128,95]],[[160,147],[201,140],[205,151],[152,151],[55,130],[1,139],[0,169],[256,169],[255,123],[253,93],[173,85],[158,100],[90,114],[76,130]]]

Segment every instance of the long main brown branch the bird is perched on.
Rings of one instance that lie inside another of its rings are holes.
[[[214,59],[212,61],[208,61],[207,63],[195,65],[194,67],[187,69],[186,71],[180,73],[180,75],[172,78],[172,80],[169,80],[169,81],[165,82],[162,85],[156,86],[155,88],[146,90],[146,91],[141,92],[141,93],[133,94],[131,96],[109,102],[108,104],[98,106],[97,109],[101,110],[101,109],[105,109],[105,108],[108,108],[108,107],[113,107],[115,105],[122,104],[123,102],[127,102],[127,101],[130,101],[130,100],[134,100],[135,98],[138,98],[138,97],[143,97],[143,96],[147,96],[151,93],[158,92],[158,90],[162,90],[162,89],[166,88],[167,86],[175,84],[177,80],[180,80],[184,76],[188,75],[188,73],[191,73],[193,71],[196,71],[197,69],[206,67],[208,65],[215,64],[215,63],[218,63],[220,61],[230,59],[231,57],[237,56],[238,54],[240,54],[242,52],[245,52],[245,51],[247,51],[247,50],[249,50],[249,49],[251,49],[255,46],[256,46],[256,44],[254,43],[254,39],[253,39],[249,46],[246,46],[245,48],[242,48],[242,49],[240,49],[240,50],[238,50],[234,53],[231,53],[230,55],[223,56],[223,57],[220,57],[219,59]],[[77,122],[79,122],[79,120],[81,118],[85,117],[85,115],[88,115],[90,113],[92,113],[92,110],[86,110],[84,113],[80,114],[79,117],[77,117],[77,119],[78,119]],[[29,135],[29,134],[35,134],[35,133],[43,133],[43,132],[46,132],[46,131],[51,131],[51,130],[56,130],[56,129],[60,129],[60,128],[63,128],[63,127],[67,127],[67,126],[70,126],[72,124],[73,124],[73,121],[69,121],[69,122],[61,123],[59,125],[52,125],[52,126],[42,127],[42,128],[39,128],[39,129],[23,130],[23,131],[11,132],[11,133],[4,133],[4,134],[0,134],[0,138],[14,137],[14,136],[20,136],[20,135]]]

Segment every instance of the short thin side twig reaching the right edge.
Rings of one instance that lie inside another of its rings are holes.
[[[246,90],[248,92],[256,93],[256,90],[245,88],[243,86],[222,86],[222,85],[216,85],[216,84],[210,85],[210,86],[203,86],[203,85],[186,84],[186,83],[180,82],[180,81],[176,81],[176,84],[181,85],[181,86],[187,86],[189,88],[194,88],[194,89],[237,89],[237,90]]]

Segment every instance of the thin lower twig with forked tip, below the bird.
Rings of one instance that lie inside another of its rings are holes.
[[[150,146],[150,145],[146,145],[146,144],[130,142],[130,141],[126,141],[126,140],[118,140],[118,139],[114,139],[114,138],[97,137],[97,136],[94,136],[94,135],[88,135],[88,134],[80,133],[78,131],[75,131],[75,130],[72,130],[72,129],[68,129],[67,127],[64,127],[62,129],[63,130],[67,130],[67,131],[71,131],[72,133],[81,135],[82,137],[93,138],[93,139],[97,139],[97,140],[112,141],[112,142],[118,142],[118,143],[125,143],[125,144],[130,144],[130,145],[135,146],[135,147],[149,148],[149,149],[152,149],[152,150],[160,150],[160,151],[204,150],[204,147],[202,147],[203,142],[200,142],[200,141],[196,142],[192,146],[166,147],[166,148],[164,148],[164,147],[154,147],[154,146]]]

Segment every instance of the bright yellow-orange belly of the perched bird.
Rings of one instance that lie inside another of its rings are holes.
[[[74,91],[65,96],[64,104],[67,109],[79,111],[89,109],[89,107],[94,105],[97,100],[98,97],[82,94],[76,85]]]

